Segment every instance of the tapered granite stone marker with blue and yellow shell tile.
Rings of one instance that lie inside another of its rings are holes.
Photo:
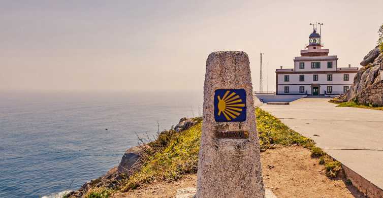
[[[213,52],[206,61],[197,198],[265,197],[249,59]]]

